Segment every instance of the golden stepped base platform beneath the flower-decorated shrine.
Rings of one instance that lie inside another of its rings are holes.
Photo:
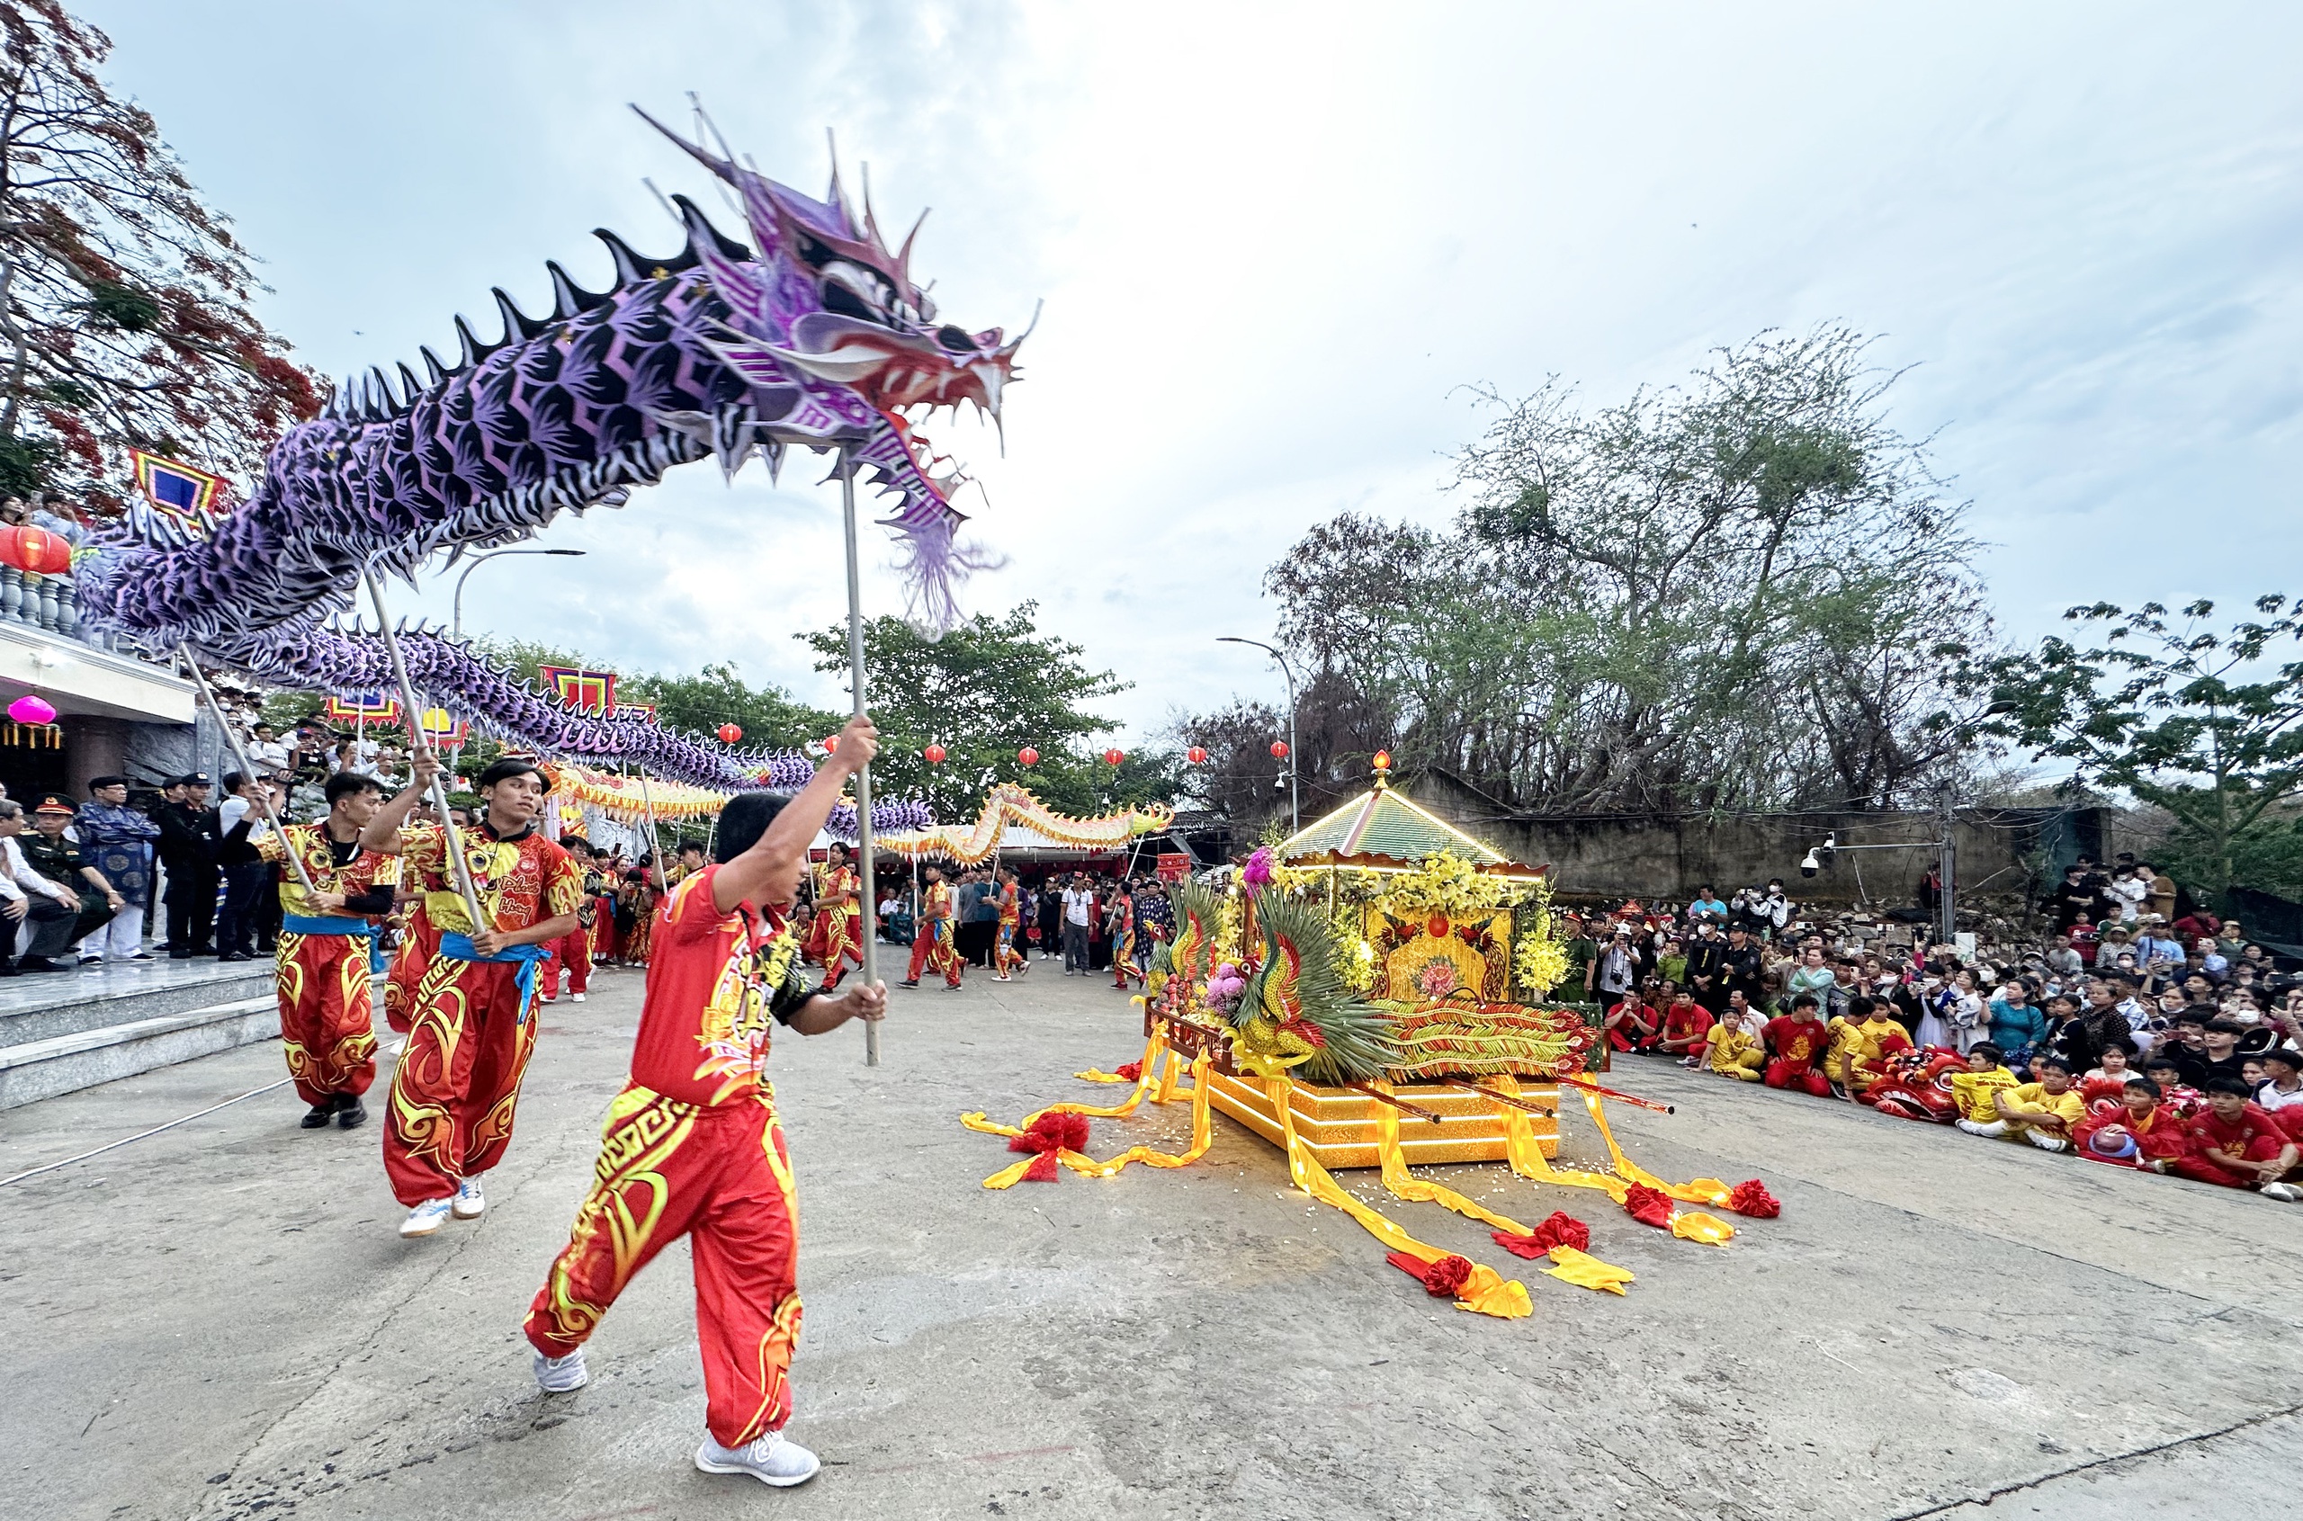
[[[1430,1109],[1439,1123],[1414,1114],[1400,1114],[1400,1153],[1409,1164],[1430,1162],[1502,1162],[1504,1118],[1495,1100],[1465,1093],[1446,1084],[1403,1084],[1398,1098],[1419,1109]],[[1520,1081],[1520,1098],[1545,1109],[1557,1109],[1559,1088],[1545,1081]],[[1262,1079],[1234,1077],[1230,1072],[1207,1075],[1207,1102],[1234,1121],[1280,1146],[1280,1121],[1271,1109]],[[1320,1167],[1377,1167],[1375,1160],[1375,1107],[1382,1100],[1354,1088],[1322,1088],[1315,1084],[1290,1084],[1287,1109]],[[1559,1155],[1559,1121],[1541,1114],[1527,1116],[1536,1132],[1536,1144],[1545,1157]]]

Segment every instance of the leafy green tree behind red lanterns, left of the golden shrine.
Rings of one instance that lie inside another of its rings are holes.
[[[1179,785],[1172,752],[1131,755],[1117,771],[1092,743],[1115,725],[1080,704],[1128,690],[1112,672],[1089,672],[1085,654],[1036,626],[1039,603],[1004,617],[976,614],[926,640],[896,617],[864,626],[864,674],[882,750],[873,785],[924,796],[937,819],[965,819],[993,782],[1023,782],[1057,812],[1094,815],[1124,803],[1168,801]],[[848,626],[799,635],[815,670],[848,677]],[[944,762],[921,755],[930,743]],[[1039,750],[1025,766],[1018,750]]]

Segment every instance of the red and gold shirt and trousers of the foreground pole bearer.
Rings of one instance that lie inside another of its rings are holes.
[[[564,1358],[624,1284],[689,1238],[705,1424],[723,1447],[792,1415],[799,1206],[767,1081],[774,1022],[808,1001],[799,939],[712,902],[719,867],[672,888],[656,923],[631,1084],[601,1125],[592,1192],[527,1307],[527,1342]]]

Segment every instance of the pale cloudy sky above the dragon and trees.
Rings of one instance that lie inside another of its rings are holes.
[[[1135,690],[1131,736],[1271,697],[1264,566],[1340,511],[1444,520],[1458,391],[1591,403],[1845,320],[1916,366],[2004,626],[2291,587],[2303,12],[2262,5],[550,5],[83,0],[265,318],[334,375],[454,354],[488,285],[603,283],[640,184],[700,175],[624,110],[702,94],[822,191],[824,129],[965,327],[1048,308],[986,486],[1041,621]],[[723,226],[739,230],[737,219]],[[486,318],[486,320],[484,320]],[[790,637],[843,612],[838,495],[691,465],[481,568],[468,630],[624,670],[735,656],[834,706]],[[758,467],[753,467],[758,469]],[[884,557],[884,541],[868,550]],[[405,598],[405,594],[403,594]],[[894,610],[875,573],[868,605]],[[424,610],[444,621],[444,591]]]

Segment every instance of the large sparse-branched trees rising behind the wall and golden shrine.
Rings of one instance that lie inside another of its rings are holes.
[[[1306,534],[1264,578],[1306,808],[1384,746],[1559,812],[1891,808],[1967,766],[1976,545],[1865,352],[1824,327],[1612,407],[1490,393],[1453,525]]]

